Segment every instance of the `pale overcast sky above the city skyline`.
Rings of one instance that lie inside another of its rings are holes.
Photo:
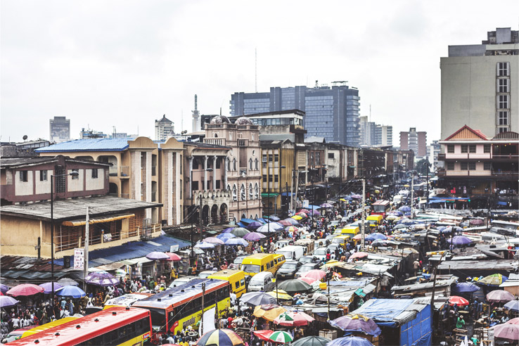
[[[1,1],[1,141],[49,119],[154,136],[229,114],[235,91],[347,80],[361,115],[440,137],[440,57],[518,30],[519,1]],[[184,120],[184,121],[182,121]]]

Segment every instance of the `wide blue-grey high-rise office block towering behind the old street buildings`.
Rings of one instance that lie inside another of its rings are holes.
[[[345,82],[332,87],[272,87],[266,93],[234,93],[231,115],[249,115],[279,110],[303,110],[307,136],[329,142],[359,146],[359,91]]]

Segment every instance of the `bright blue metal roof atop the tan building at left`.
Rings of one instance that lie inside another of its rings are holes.
[[[37,153],[60,153],[68,151],[122,151],[128,148],[128,141],[133,139],[75,139],[73,141],[66,141],[44,148],[37,148]]]

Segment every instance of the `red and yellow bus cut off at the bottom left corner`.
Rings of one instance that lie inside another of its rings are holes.
[[[151,338],[147,309],[110,307],[6,345],[144,345]]]

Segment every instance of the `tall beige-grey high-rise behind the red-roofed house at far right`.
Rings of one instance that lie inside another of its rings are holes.
[[[499,27],[481,44],[449,46],[442,70],[442,139],[467,125],[519,132],[519,32]]]

